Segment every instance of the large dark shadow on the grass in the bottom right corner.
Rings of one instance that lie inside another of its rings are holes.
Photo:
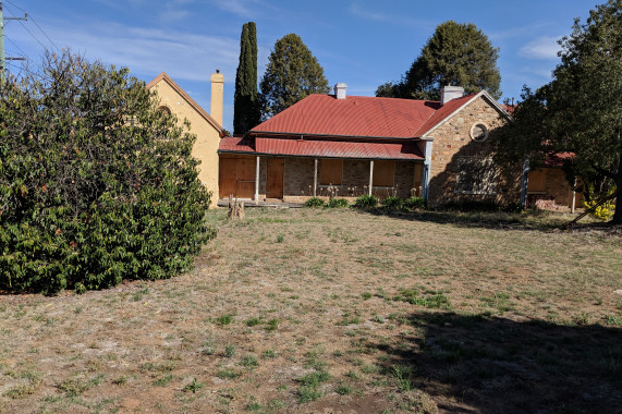
[[[420,312],[386,367],[448,412],[622,413],[622,329]]]

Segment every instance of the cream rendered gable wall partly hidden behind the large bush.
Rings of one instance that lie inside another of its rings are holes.
[[[161,80],[153,89],[158,93],[160,106],[166,106],[174,113],[181,126],[184,119],[191,123],[190,132],[196,135],[192,155],[200,160],[198,166],[198,178],[211,192],[211,205],[216,207],[218,203],[218,145],[220,143],[219,131],[217,131],[191,104],[180,95],[164,80]]]

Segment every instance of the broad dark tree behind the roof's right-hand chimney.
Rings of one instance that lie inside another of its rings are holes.
[[[402,81],[380,85],[376,95],[438,100],[442,86],[456,85],[466,93],[486,89],[498,99],[498,57],[499,49],[477,26],[448,21],[437,26]]]

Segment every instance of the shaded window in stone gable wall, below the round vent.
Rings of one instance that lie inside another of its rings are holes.
[[[497,194],[497,167],[492,159],[481,157],[459,158],[455,193]]]

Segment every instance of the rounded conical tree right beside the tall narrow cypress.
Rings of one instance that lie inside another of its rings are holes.
[[[324,69],[300,36],[277,40],[261,78],[261,117],[268,119],[310,94],[328,94]]]

